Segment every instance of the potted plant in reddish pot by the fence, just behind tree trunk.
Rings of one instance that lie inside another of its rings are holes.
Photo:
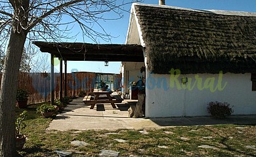
[[[28,90],[26,89],[18,89],[16,95],[16,103],[18,108],[25,109],[28,103]]]

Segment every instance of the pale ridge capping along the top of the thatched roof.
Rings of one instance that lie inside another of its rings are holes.
[[[256,16],[256,12],[245,12],[245,11],[233,11],[233,10],[206,10],[206,9],[188,9],[182,7],[174,7],[169,5],[150,5],[144,3],[133,3],[132,7],[135,6],[144,6],[144,7],[156,7],[156,8],[165,8],[165,9],[175,9],[175,10],[186,10],[192,12],[203,12],[207,14],[223,14],[230,16]]]

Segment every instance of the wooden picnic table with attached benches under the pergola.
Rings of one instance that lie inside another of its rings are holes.
[[[123,99],[119,95],[111,96],[111,93],[112,92],[108,91],[94,90],[93,94],[95,94],[95,96],[85,96],[83,103],[91,105],[90,109],[94,109],[97,103],[111,103],[113,109],[116,109],[115,103],[121,103]]]

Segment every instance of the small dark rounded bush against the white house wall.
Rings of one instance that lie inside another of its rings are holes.
[[[207,111],[216,118],[226,118],[226,116],[230,116],[234,113],[234,110],[230,107],[229,103],[221,103],[218,101],[209,102]]]

